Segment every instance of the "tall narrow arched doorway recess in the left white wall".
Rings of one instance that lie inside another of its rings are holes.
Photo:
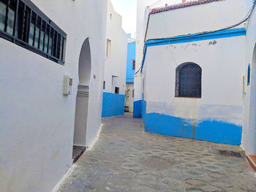
[[[79,84],[75,104],[74,153],[86,147],[86,126],[89,105],[89,82],[91,78],[91,48],[89,39],[83,42],[78,64]],[[82,152],[82,151],[80,151]],[[77,154],[79,155],[79,154]]]

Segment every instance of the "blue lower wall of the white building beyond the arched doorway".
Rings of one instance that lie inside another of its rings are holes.
[[[103,93],[102,100],[102,117],[124,115],[124,95]]]

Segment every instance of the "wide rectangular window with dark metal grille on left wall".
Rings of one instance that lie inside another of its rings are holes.
[[[29,0],[0,0],[0,37],[64,64],[67,34]]]

